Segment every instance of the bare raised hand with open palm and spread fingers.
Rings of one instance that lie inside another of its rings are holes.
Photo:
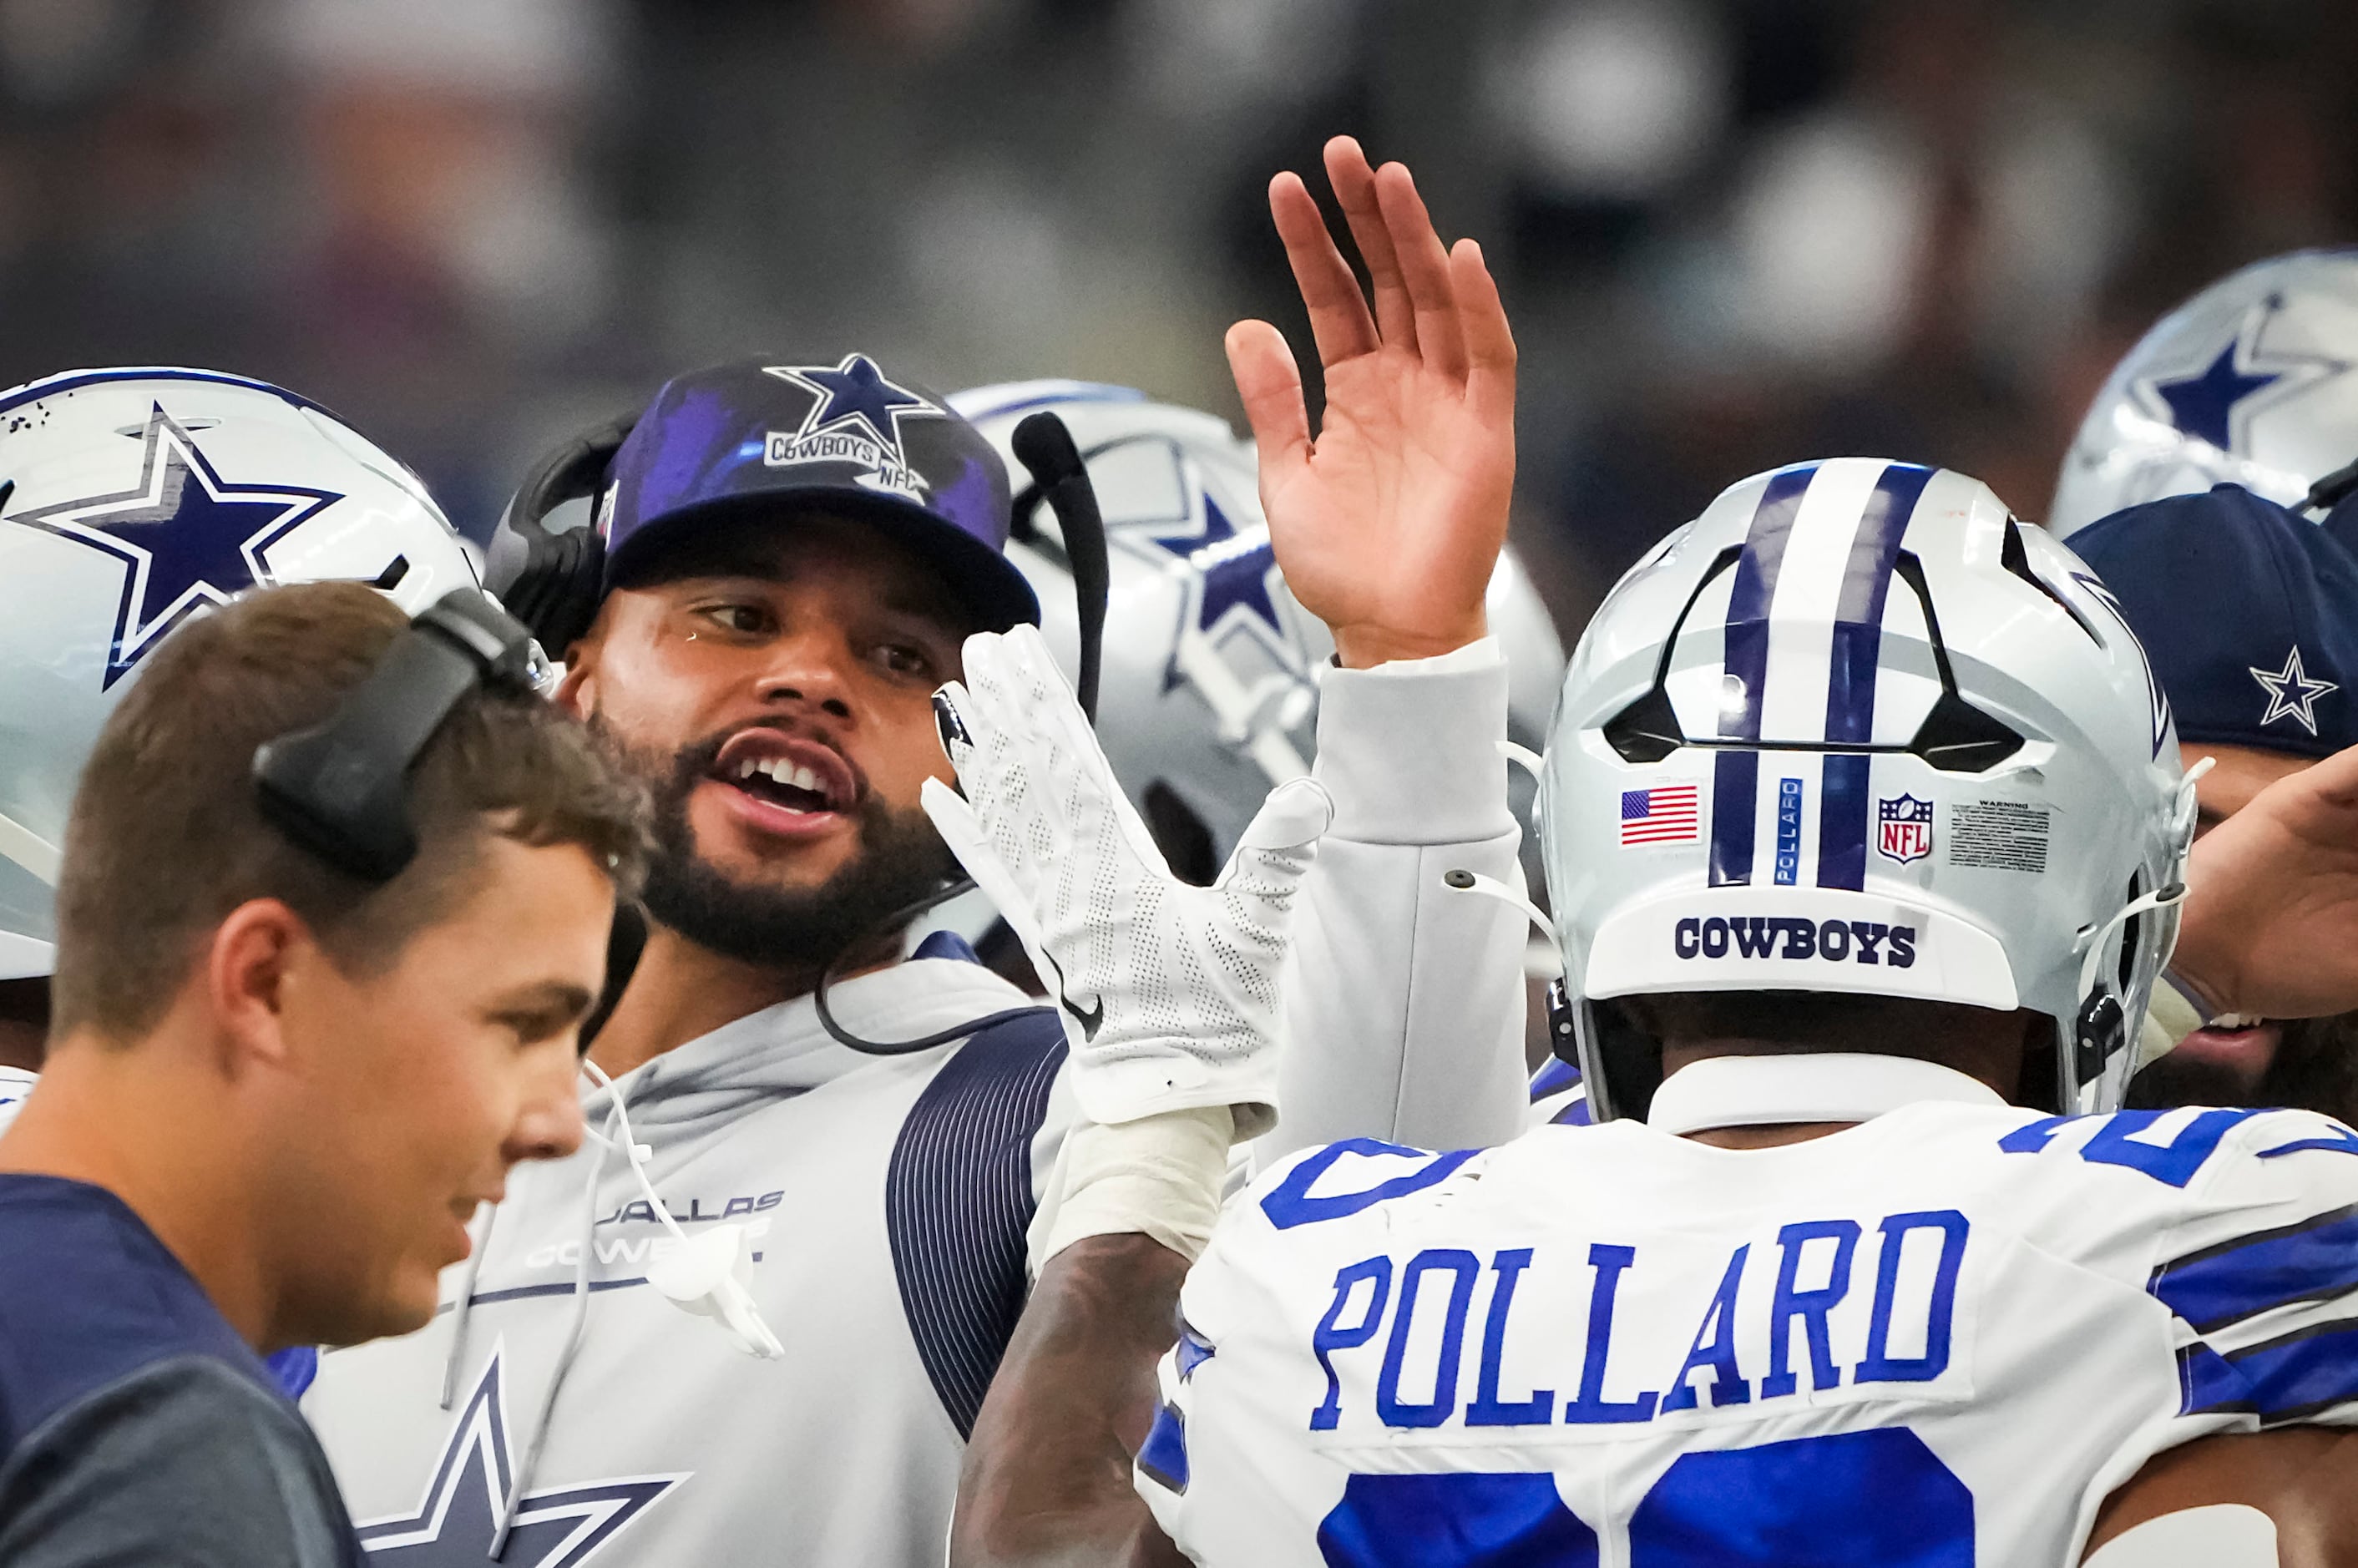
[[[1262,448],[1262,509],[1285,585],[1349,667],[1448,653],[1486,630],[1483,589],[1514,490],[1514,335],[1481,245],[1441,245],[1398,163],[1325,146],[1375,309],[1299,174],[1269,184],[1325,368],[1316,439],[1302,370],[1266,321],[1229,328]]]

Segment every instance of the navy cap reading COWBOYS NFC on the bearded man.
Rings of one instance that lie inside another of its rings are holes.
[[[606,587],[646,542],[714,516],[851,516],[934,561],[995,632],[1040,620],[1007,561],[1007,469],[931,391],[865,354],[747,358],[674,377],[615,453],[599,509]]]

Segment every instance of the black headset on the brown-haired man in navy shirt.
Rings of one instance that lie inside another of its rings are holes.
[[[476,587],[420,611],[368,677],[311,729],[255,747],[262,816],[361,882],[384,884],[417,858],[408,773],[472,691],[531,696],[547,660],[531,630]]]

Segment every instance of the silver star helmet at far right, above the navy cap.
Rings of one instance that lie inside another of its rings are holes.
[[[2113,368],[2063,457],[2047,526],[2221,481],[2297,507],[2358,457],[2358,250],[2219,278]]]

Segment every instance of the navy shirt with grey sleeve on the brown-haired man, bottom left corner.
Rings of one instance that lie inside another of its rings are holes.
[[[0,1177],[0,1563],[358,1561],[311,1429],[156,1233]]]

